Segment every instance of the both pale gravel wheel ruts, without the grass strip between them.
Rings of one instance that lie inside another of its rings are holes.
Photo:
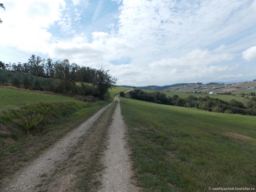
[[[114,119],[109,126],[109,146],[105,151],[102,162],[106,169],[103,172],[102,187],[99,191],[139,191],[130,182],[132,176],[129,151],[125,147],[125,124],[121,116],[120,101],[117,100]],[[56,167],[68,158],[68,154],[77,145],[79,138],[87,134],[88,130],[99,119],[101,114],[113,103],[102,108],[94,116],[82,123],[78,128],[54,144],[52,148],[43,153],[23,171],[18,171],[10,181],[2,184],[0,191],[37,191],[36,186],[41,184],[42,176],[51,175]],[[47,190],[48,191],[48,190]],[[57,191],[62,191],[57,189]],[[65,190],[71,191],[71,189]]]

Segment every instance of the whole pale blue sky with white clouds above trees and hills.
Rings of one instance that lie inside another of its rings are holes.
[[[2,0],[0,61],[103,67],[117,85],[256,79],[256,0]]]

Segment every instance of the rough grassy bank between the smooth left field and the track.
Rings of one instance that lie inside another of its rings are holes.
[[[0,151],[0,179],[8,179],[107,104],[109,102],[106,101],[34,103],[16,110],[2,111],[1,141],[6,143],[9,139],[11,145],[5,145]],[[23,117],[38,113],[44,114],[44,122],[28,136],[23,129]]]

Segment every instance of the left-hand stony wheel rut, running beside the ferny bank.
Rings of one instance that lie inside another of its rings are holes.
[[[0,191],[36,191],[35,186],[41,182],[41,176],[51,174],[58,163],[68,157],[69,150],[77,144],[79,138],[87,133],[93,123],[112,103],[99,110],[78,128],[68,133],[67,136],[55,143],[52,148],[40,155],[38,159],[24,168],[23,171],[16,173],[13,179],[3,183]]]

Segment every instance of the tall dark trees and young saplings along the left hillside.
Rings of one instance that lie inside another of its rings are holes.
[[[116,82],[108,70],[70,64],[68,59],[53,62],[32,55],[23,64],[0,61],[0,84],[24,89],[104,98]]]

